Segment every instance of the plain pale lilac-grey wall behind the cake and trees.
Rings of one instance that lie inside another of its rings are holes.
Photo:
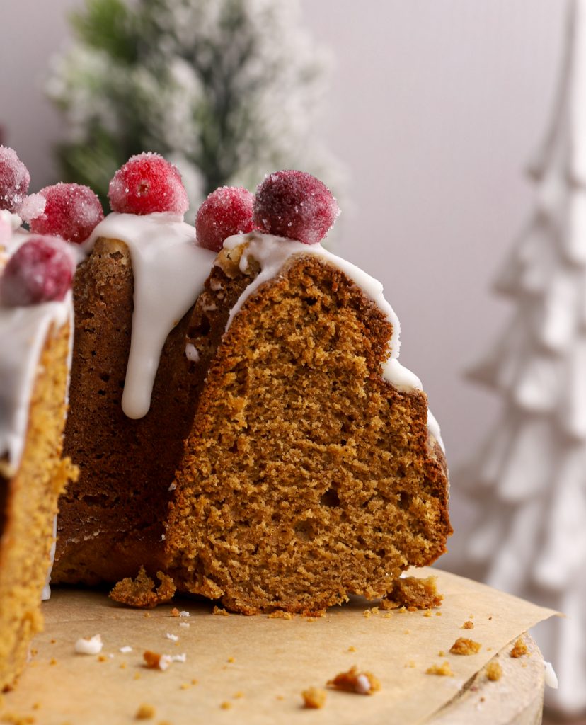
[[[62,122],[43,96],[81,0],[2,0],[0,125],[55,181]],[[348,170],[336,252],[380,278],[401,360],[442,426],[451,468],[473,455],[498,401],[463,379],[510,307],[490,285],[530,210],[523,175],[548,120],[565,1],[302,0],[335,60],[318,133]],[[456,528],[466,512],[453,498]]]

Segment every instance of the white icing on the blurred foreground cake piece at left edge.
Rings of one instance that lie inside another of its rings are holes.
[[[7,478],[20,465],[30,397],[49,328],[51,324],[63,326],[71,315],[71,291],[62,302],[0,307],[0,339],[10,341],[0,356],[0,457],[7,457],[7,466],[3,466]]]

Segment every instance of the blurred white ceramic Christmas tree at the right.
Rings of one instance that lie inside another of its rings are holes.
[[[559,689],[586,711],[586,0],[570,5],[549,132],[530,174],[535,211],[498,276],[516,309],[472,377],[503,415],[464,480],[479,522],[466,573],[556,608],[537,632]]]

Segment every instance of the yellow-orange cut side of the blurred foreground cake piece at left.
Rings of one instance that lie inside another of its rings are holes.
[[[41,592],[57,497],[73,474],[61,460],[69,326],[51,327],[30,402],[22,462],[0,475],[0,691],[12,687],[33,636],[43,628]]]

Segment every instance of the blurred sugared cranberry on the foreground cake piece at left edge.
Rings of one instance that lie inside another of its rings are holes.
[[[8,260],[0,277],[0,299],[8,307],[61,300],[70,289],[75,260],[54,236],[31,236]]]

